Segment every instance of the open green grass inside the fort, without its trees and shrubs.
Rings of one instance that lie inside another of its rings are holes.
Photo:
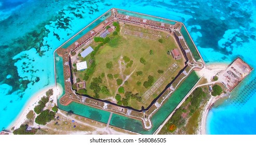
[[[142,28],[141,32],[146,32],[146,28]],[[113,101],[115,101],[115,95],[118,94],[117,90],[120,87],[120,85],[117,85],[117,79],[122,79],[124,81],[127,78],[128,82],[126,82],[126,84],[123,83],[122,85],[125,92],[130,91],[133,94],[139,93],[139,95],[142,96],[142,94],[149,89],[146,89],[143,86],[144,81],[147,81],[149,75],[153,76],[154,81],[156,81],[162,75],[157,72],[158,70],[163,70],[165,72],[171,64],[177,63],[179,68],[172,75],[176,76],[178,71],[183,68],[184,62],[183,60],[174,60],[171,55],[167,54],[167,51],[178,48],[178,46],[172,37],[165,38],[165,36],[168,35],[167,33],[160,32],[160,35],[164,40],[162,44],[158,40],[144,39],[126,35],[122,32],[118,32],[118,35],[116,36],[110,35],[110,42],[100,47],[95,55],[96,69],[93,75],[86,81],[87,94],[90,96],[95,95],[93,90],[89,89],[89,85],[92,82],[92,78],[99,76],[102,79],[100,86],[106,86],[110,91],[109,94],[101,91],[99,93],[100,99],[112,99]],[[153,54],[150,54],[150,50],[153,51]],[[141,63],[141,58],[145,60],[145,64]],[[90,56],[83,60],[89,61],[89,59]],[[106,63],[112,63],[113,66],[107,68]],[[87,65],[89,66],[88,63]],[[137,71],[142,71],[142,75],[137,76]],[[77,77],[83,80],[84,72],[85,71],[78,72]],[[102,73],[104,73],[103,77]],[[113,75],[113,78],[107,77],[108,74]],[[116,74],[119,74],[117,78],[114,77]],[[145,104],[136,99],[130,99],[128,101],[128,106],[136,109],[141,109],[142,106],[146,108],[151,101],[163,91],[165,86],[171,81],[172,76],[160,86]],[[138,81],[141,82],[139,86],[137,85]],[[122,98],[124,97],[124,94],[120,95]]]

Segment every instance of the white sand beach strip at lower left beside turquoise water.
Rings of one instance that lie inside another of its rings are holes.
[[[49,98],[49,100],[53,99],[53,102],[57,104],[57,96],[60,93],[62,93],[63,91],[62,88],[59,85],[57,85],[57,87],[51,86],[51,87],[44,88],[43,90],[38,91],[31,97],[31,99],[26,103],[26,105],[24,106],[20,114],[17,116],[17,118],[7,128],[11,129],[12,127],[15,127],[16,129],[24,121],[26,121],[27,120],[26,114],[28,114],[30,110],[34,110],[34,107],[38,104],[38,101],[41,100],[41,98],[46,95],[46,91],[48,91],[49,89],[53,89],[53,95]]]

